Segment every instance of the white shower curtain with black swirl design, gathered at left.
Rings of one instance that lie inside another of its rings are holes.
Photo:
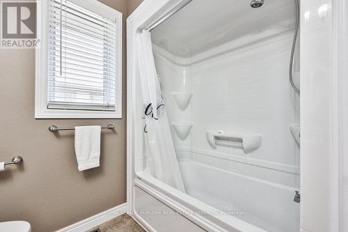
[[[136,36],[136,56],[146,123],[145,143],[149,150],[147,158],[152,169],[150,171],[157,179],[185,192],[157,78],[150,31],[143,30]]]

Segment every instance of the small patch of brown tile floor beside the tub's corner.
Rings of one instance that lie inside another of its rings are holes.
[[[100,232],[145,232],[143,227],[126,214],[105,222],[88,232],[95,231],[95,229],[100,229]]]

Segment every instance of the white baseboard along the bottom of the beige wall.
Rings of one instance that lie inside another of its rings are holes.
[[[104,212],[100,212],[97,215],[88,217],[80,222],[67,226],[56,232],[86,232],[93,229],[95,226],[99,226],[104,222],[107,222],[115,217],[118,217],[128,210],[127,203],[122,203],[120,206],[116,206]]]

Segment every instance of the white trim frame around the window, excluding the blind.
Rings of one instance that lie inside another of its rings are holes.
[[[122,118],[122,13],[97,0],[69,0],[102,15],[116,20],[116,105],[115,111],[48,109],[48,38],[49,1],[38,2],[37,31],[38,47],[35,51],[35,118]]]

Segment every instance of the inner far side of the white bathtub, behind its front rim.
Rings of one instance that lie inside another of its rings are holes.
[[[194,161],[180,162],[189,196],[269,232],[299,231],[294,187]]]

